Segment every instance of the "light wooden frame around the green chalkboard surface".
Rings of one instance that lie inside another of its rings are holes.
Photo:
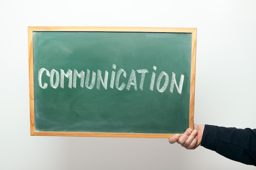
[[[30,102],[30,134],[39,136],[90,136],[90,137],[142,137],[170,138],[173,134],[141,134],[141,133],[106,133],[106,132],[42,132],[35,130],[34,108],[34,68],[33,68],[33,31],[113,31],[113,32],[167,32],[192,33],[191,51],[191,93],[189,110],[189,127],[193,129],[194,96],[195,96],[195,58],[196,28],[157,28],[157,27],[75,27],[75,26],[28,26],[29,46],[29,102]]]

